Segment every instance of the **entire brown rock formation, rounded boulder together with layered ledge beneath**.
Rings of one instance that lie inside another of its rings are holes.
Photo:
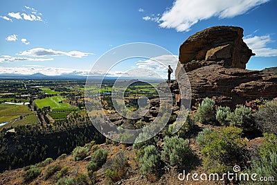
[[[181,82],[184,67],[190,80],[192,105],[208,97],[217,105],[235,107],[256,98],[277,96],[277,76],[246,70],[254,55],[242,40],[239,27],[216,26],[202,30],[181,44],[175,77]],[[177,81],[170,83],[178,95]]]

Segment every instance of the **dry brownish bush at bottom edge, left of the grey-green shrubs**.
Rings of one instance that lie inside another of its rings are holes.
[[[117,182],[126,172],[127,157],[125,157],[124,152],[118,152],[116,157],[109,159],[102,168],[109,182]]]

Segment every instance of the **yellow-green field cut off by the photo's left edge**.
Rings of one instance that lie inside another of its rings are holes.
[[[31,114],[27,105],[8,105],[0,104],[0,123],[6,121],[12,121],[15,118],[24,116],[26,114]]]

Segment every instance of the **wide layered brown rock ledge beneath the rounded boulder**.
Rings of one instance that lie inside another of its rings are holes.
[[[277,76],[213,64],[188,72],[192,105],[213,98],[217,105],[235,107],[256,98],[277,96]],[[176,82],[175,82],[176,83]]]

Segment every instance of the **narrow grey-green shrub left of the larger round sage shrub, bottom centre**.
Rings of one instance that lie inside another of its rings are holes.
[[[155,146],[146,146],[143,149],[143,155],[139,159],[141,173],[156,173],[160,165],[159,152]]]

